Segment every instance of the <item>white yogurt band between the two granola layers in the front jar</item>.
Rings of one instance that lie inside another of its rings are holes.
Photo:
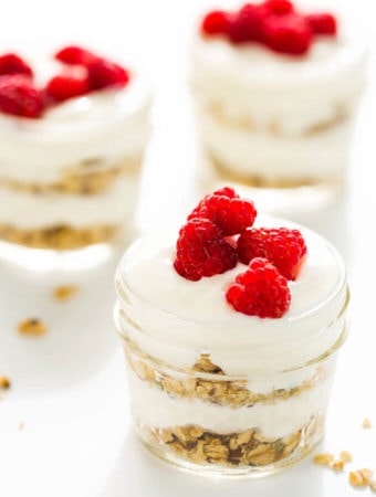
[[[129,387],[133,415],[147,426],[170,429],[192,424],[222,434],[259,429],[264,436],[279,438],[301,430],[312,415],[325,413],[331,379],[288,400],[238,409],[170,398],[133,372]]]

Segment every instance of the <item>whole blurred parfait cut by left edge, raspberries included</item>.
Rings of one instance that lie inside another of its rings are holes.
[[[129,234],[149,107],[136,70],[84,47],[0,55],[0,240],[72,250]]]

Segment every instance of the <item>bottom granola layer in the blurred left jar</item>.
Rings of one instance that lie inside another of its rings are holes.
[[[107,242],[116,236],[119,229],[117,225],[90,228],[56,225],[46,229],[20,230],[14,226],[0,224],[0,239],[32,248],[74,250]]]

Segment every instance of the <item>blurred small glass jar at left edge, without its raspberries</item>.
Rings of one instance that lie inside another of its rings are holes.
[[[39,118],[0,115],[2,258],[85,265],[129,242],[150,97],[133,72],[124,88],[70,98]]]

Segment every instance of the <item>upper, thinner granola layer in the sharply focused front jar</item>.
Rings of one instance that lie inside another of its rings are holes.
[[[182,374],[170,374],[160,366],[153,367],[143,359],[127,353],[128,364],[137,377],[178,399],[198,399],[202,402],[231,408],[251,408],[254,404],[273,404],[311,390],[323,381],[322,368],[301,384],[289,389],[271,389],[268,393],[252,392],[247,380],[221,379],[226,377],[219,366],[213,364],[209,356],[201,355],[199,360]],[[228,378],[228,377],[226,377]]]

